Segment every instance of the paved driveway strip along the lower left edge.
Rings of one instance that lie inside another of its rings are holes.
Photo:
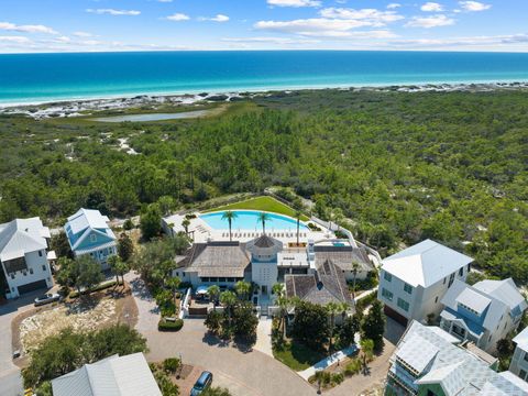
[[[19,396],[23,394],[20,369],[13,364],[11,321],[22,312],[33,308],[33,300],[43,290],[34,292],[10,300],[0,306],[0,396]]]

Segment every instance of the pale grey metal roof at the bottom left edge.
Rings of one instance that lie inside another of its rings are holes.
[[[162,396],[143,353],[113,355],[52,380],[54,396]]]

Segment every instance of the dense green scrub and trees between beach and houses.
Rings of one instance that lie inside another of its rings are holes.
[[[2,222],[59,223],[81,206],[129,217],[166,196],[190,206],[284,186],[382,254],[430,238],[528,282],[522,90],[276,92],[196,120],[1,116],[0,133]]]

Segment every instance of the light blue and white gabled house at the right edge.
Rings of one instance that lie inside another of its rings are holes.
[[[495,353],[497,341],[520,323],[527,304],[512,278],[483,280],[473,286],[454,280],[441,302],[440,327],[460,340]]]

